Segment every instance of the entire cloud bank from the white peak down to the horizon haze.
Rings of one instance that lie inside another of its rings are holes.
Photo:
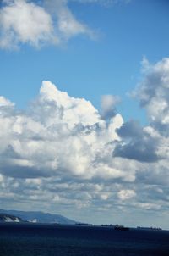
[[[143,72],[134,96],[148,115],[144,127],[138,120],[123,121],[116,112],[117,97],[102,97],[99,113],[89,101],[69,97],[50,81],[42,82],[25,111],[0,97],[3,208],[31,205],[72,211],[72,216],[77,209],[85,220],[91,211],[117,220],[120,210],[122,218],[149,213],[159,216],[156,223],[161,217],[166,222],[169,58],[154,65],[144,59]]]

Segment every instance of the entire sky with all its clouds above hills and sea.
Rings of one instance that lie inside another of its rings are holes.
[[[1,0],[2,209],[169,229],[168,9]]]

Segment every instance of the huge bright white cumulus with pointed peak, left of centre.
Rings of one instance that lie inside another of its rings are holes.
[[[127,179],[112,161],[115,130],[123,124],[119,114],[107,126],[90,102],[69,97],[49,81],[43,81],[29,114],[11,112],[13,104],[3,102],[10,107],[0,109],[2,140],[6,137],[1,144],[3,175]],[[104,163],[104,152],[109,163]]]

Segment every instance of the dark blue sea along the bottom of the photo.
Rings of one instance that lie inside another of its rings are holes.
[[[0,256],[168,256],[169,231],[0,224]]]

